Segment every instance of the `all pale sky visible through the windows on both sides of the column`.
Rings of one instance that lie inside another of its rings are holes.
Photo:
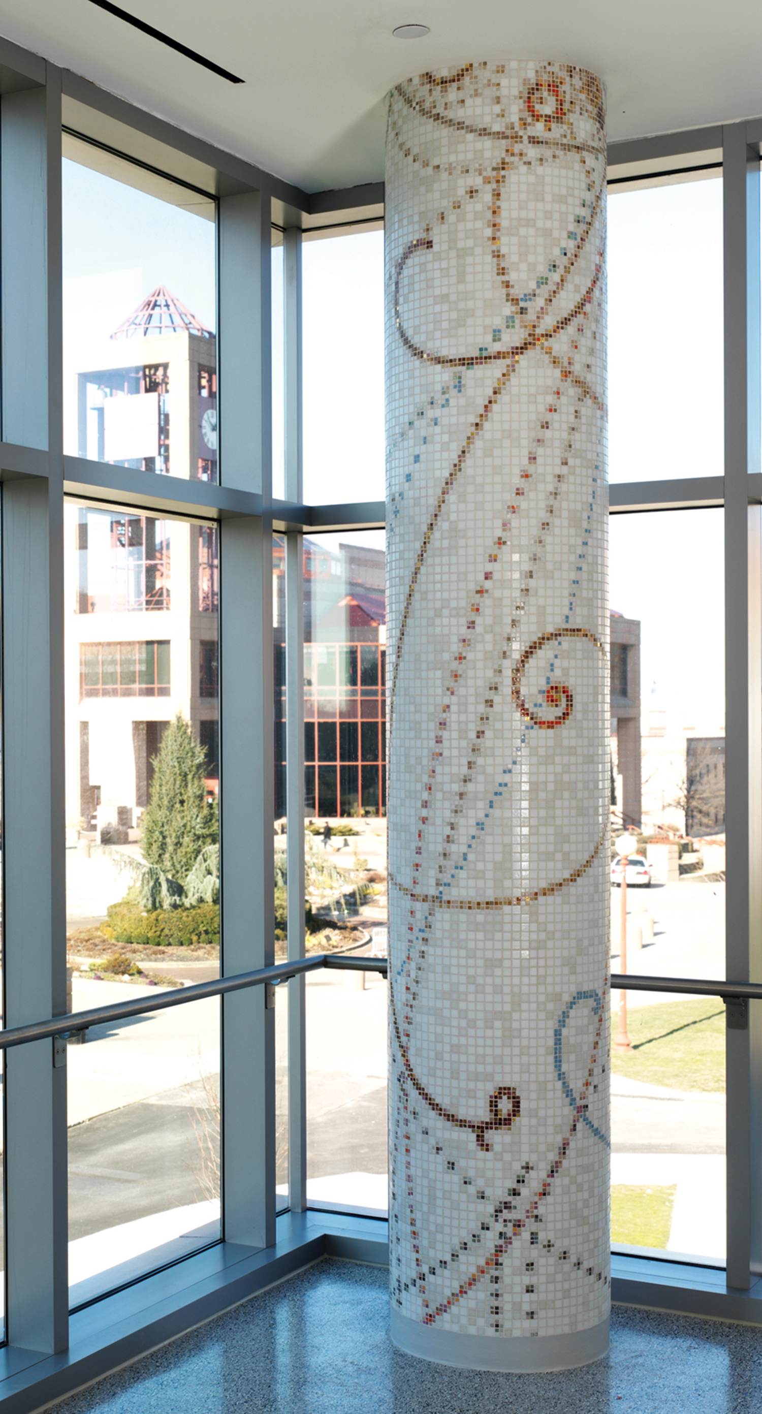
[[[216,327],[215,228],[64,163],[66,450],[76,369],[157,286]],[[722,472],[721,182],[608,201],[609,478]],[[283,495],[283,247],[273,249],[273,481]],[[383,233],[303,246],[304,498],[383,498]],[[92,363],[89,365],[92,366]],[[331,537],[358,539],[351,534]],[[383,532],[366,543],[383,546]],[[611,605],[642,622],[643,708],[722,720],[721,512],[615,516]]]

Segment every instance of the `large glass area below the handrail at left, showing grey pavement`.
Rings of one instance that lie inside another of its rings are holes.
[[[75,1008],[141,991],[76,973],[72,987]],[[219,1001],[92,1027],[85,1045],[69,1042],[66,1069],[79,1307],[219,1240]]]

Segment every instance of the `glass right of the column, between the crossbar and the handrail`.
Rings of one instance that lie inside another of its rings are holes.
[[[643,573],[643,554],[657,574]],[[612,819],[633,834],[628,928],[638,971],[724,976],[722,566],[721,510],[611,516]],[[701,585],[698,614],[684,609],[691,584]],[[612,884],[616,966],[616,870]]]

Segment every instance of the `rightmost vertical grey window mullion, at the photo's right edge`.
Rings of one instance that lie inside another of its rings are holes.
[[[724,129],[727,977],[762,977],[762,602],[759,506],[759,160]],[[762,1261],[762,1018],[727,1029],[728,1285]]]

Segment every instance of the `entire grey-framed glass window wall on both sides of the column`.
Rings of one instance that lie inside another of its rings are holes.
[[[8,1051],[8,1340],[38,1352],[69,1302],[269,1251],[288,1205],[386,1209],[385,980],[279,980],[386,954],[380,212],[310,230],[310,198],[238,160],[96,95],[51,123],[51,95],[21,75],[0,110],[4,1024],[103,1019],[52,1065],[52,1034]],[[650,990],[619,988],[611,1063],[616,1250],[742,1287],[759,1001],[727,1025],[664,990],[762,977],[758,195],[734,132],[725,181],[684,139],[700,180],[612,153],[612,967]],[[281,962],[267,991],[182,1001]]]

